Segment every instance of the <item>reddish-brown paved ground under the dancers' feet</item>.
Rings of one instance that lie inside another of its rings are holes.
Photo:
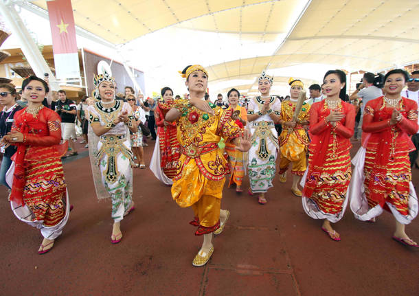
[[[44,255],[41,234],[14,217],[0,188],[0,295],[419,295],[419,252],[391,239],[389,213],[371,224],[348,209],[336,225],[342,240],[333,242],[293,197],[291,180],[276,177],[263,206],[225,187],[229,222],[209,264],[195,268],[202,238],[188,224],[192,209],[178,207],[149,169],[134,170],[136,209],[116,245],[111,205],[95,198],[88,159],[65,163],[65,177],[74,209]],[[419,240],[419,218],[407,232]]]

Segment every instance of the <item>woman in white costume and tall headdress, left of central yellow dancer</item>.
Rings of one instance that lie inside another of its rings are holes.
[[[95,98],[89,106],[89,152],[98,198],[111,198],[113,230],[111,242],[122,239],[121,220],[134,209],[133,153],[129,131],[137,132],[128,103],[115,100],[115,80],[108,73],[95,76]],[[92,132],[93,131],[93,132]]]

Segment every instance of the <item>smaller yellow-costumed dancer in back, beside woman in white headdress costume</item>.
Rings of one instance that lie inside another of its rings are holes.
[[[307,168],[306,151],[308,137],[304,126],[310,123],[308,122],[310,105],[304,103],[301,111],[299,111],[297,122],[293,121],[295,106],[304,84],[301,80],[294,78],[290,78],[288,83],[291,86],[291,98],[289,101],[282,102],[280,116],[280,123],[282,124],[282,133],[280,135],[280,182],[286,182],[286,170],[288,170],[289,164],[293,163],[291,174],[294,174],[294,177],[291,191],[295,196],[302,196],[301,190],[298,189],[298,183]]]

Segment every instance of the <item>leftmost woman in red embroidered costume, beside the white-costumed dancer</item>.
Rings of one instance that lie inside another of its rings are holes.
[[[10,203],[17,218],[41,229],[43,242],[39,254],[54,247],[69,218],[69,199],[66,191],[63,163],[60,157],[67,144],[60,145],[60,116],[43,106],[49,87],[36,76],[22,83],[27,107],[14,115],[12,131],[2,143],[16,145],[12,157],[14,172]],[[9,178],[8,178],[9,179]]]

